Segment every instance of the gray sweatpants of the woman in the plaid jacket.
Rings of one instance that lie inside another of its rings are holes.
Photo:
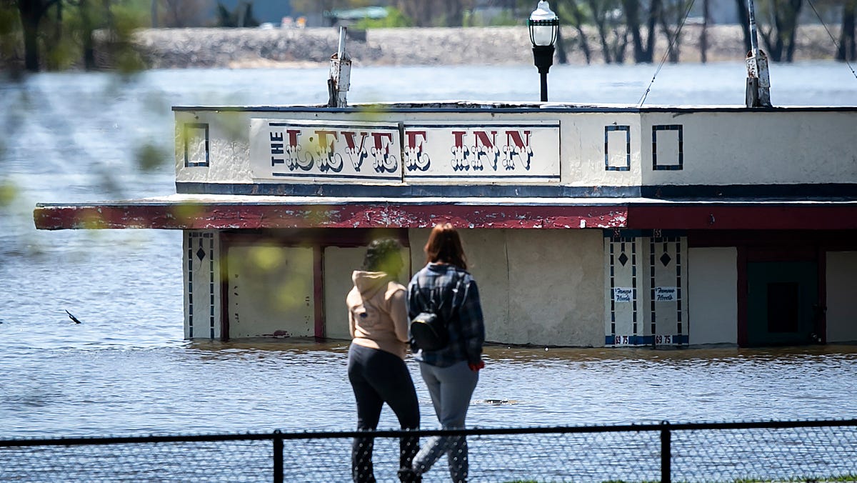
[[[476,389],[479,373],[470,371],[467,361],[449,367],[420,363],[420,373],[423,374],[423,381],[428,387],[428,394],[431,395],[434,414],[437,414],[440,427],[464,428],[470,396],[473,395],[473,389]],[[447,456],[452,481],[467,481],[467,441],[464,436],[435,436],[428,439],[414,458],[413,468],[417,474],[423,474],[444,454]]]

